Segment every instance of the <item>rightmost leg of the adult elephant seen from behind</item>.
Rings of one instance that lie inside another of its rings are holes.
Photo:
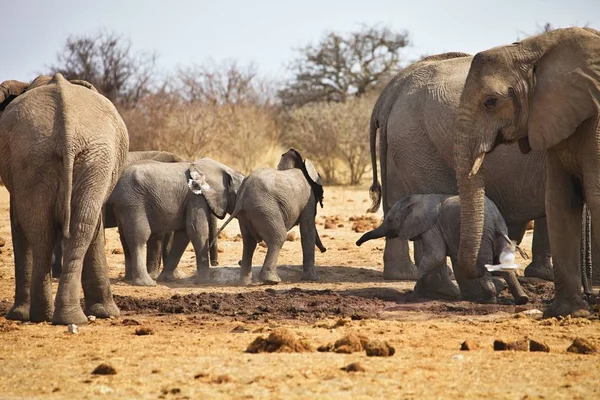
[[[104,224],[99,218],[96,233],[83,259],[82,286],[85,298],[85,314],[98,318],[118,317],[108,278],[108,264],[104,252]]]

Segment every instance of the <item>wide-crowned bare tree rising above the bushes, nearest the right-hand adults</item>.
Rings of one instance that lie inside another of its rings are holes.
[[[279,92],[284,105],[343,102],[373,90],[400,69],[406,32],[363,26],[348,35],[327,33],[317,45],[300,49],[290,69],[294,78]]]

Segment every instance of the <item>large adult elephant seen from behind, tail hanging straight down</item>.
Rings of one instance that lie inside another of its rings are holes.
[[[31,85],[0,85],[0,175],[10,193],[15,257],[11,319],[82,324],[86,314],[119,315],[101,210],[125,165],[127,128],[92,85],[74,83],[56,74]],[[53,304],[50,261],[58,231],[65,263]]]

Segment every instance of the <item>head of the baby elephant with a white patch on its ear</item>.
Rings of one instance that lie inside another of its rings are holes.
[[[235,208],[244,175],[221,163],[203,158],[190,164],[186,178],[190,190],[195,194],[202,194],[213,214],[223,219],[225,214],[231,214]]]

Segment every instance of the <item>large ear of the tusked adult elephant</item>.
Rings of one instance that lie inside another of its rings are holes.
[[[527,126],[534,150],[546,150],[568,138],[598,113],[600,102],[600,36],[573,28],[530,40],[542,39],[550,44],[535,63]]]

